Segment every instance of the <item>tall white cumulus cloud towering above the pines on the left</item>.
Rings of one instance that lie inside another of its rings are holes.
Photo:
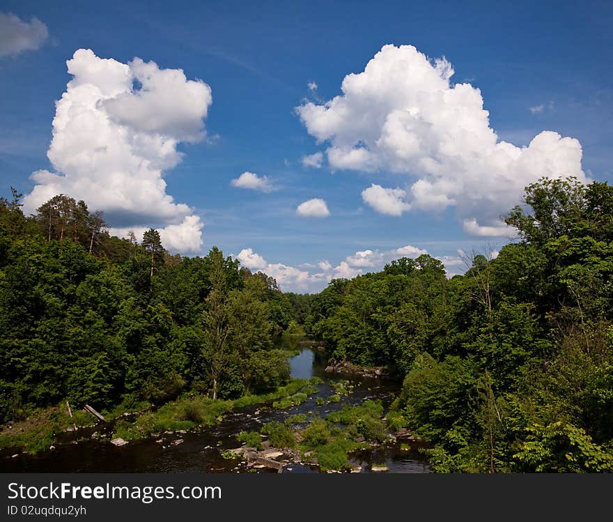
[[[104,210],[116,233],[160,227],[170,250],[199,251],[203,225],[166,194],[162,171],[180,162],[180,141],[203,136],[210,87],[187,80],[183,70],[101,59],[90,49],[77,50],[67,65],[73,77],[56,102],[47,152],[56,172],[32,175],[36,186],[24,209],[68,194]]]

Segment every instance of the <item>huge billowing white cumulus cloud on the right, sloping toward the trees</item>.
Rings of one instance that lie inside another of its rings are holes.
[[[343,79],[341,95],[296,110],[309,134],[327,144],[333,169],[410,177],[404,189],[364,191],[366,203],[391,215],[455,206],[467,233],[504,235],[499,216],[525,185],[541,176],[587,181],[577,139],[544,131],[527,147],[499,141],[481,91],[451,84],[452,75],[444,58],[385,45],[363,72]]]

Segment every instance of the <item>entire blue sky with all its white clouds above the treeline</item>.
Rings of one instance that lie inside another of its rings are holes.
[[[541,176],[613,182],[610,2],[0,4],[0,195],[217,245],[286,291],[496,252]]]

